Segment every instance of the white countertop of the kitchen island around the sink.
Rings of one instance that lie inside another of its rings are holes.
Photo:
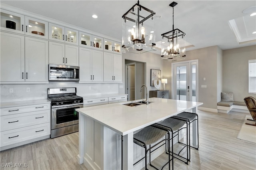
[[[124,136],[203,104],[162,98],[150,98],[149,101],[152,103],[134,107],[122,105],[130,103],[127,101],[84,107],[76,111]]]

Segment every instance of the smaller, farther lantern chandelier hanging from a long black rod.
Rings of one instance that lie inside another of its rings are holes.
[[[185,59],[185,33],[179,29],[174,29],[174,6],[178,3],[172,2],[172,31],[161,34],[161,57],[164,60],[175,61]]]

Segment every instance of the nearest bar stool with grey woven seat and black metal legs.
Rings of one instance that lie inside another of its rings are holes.
[[[168,138],[164,138],[166,136],[166,134],[168,135]],[[151,160],[150,160],[150,154],[152,151],[152,148],[154,148],[155,146],[158,146],[159,144],[161,144],[162,142],[168,140],[168,146],[169,145],[169,133],[167,130],[164,130],[163,128],[158,128],[158,127],[154,127],[154,125],[150,125],[148,127],[143,128],[142,130],[140,130],[139,132],[137,132],[136,134],[133,135],[134,136],[134,140],[133,142],[143,148],[145,148],[145,156],[143,158],[141,158],[140,160],[138,160],[135,164],[137,164],[138,162],[140,162],[141,160],[143,160],[145,158],[145,169],[147,170],[147,152],[149,151],[149,164],[150,166],[156,168],[155,166],[153,166],[151,164]],[[164,138],[163,140],[160,140],[161,138]],[[158,142],[157,144],[154,144]],[[154,144],[154,146],[151,146],[151,144]],[[166,142],[164,143],[166,144]],[[164,145],[162,144],[162,145]],[[149,145],[149,148],[147,149],[147,145]],[[158,146],[161,147],[162,145]],[[168,157],[168,162],[166,164],[169,164],[169,170],[170,170],[170,154]],[[166,166],[166,164],[164,164],[164,166]],[[162,168],[164,168],[164,166]],[[157,169],[157,168],[156,168]]]

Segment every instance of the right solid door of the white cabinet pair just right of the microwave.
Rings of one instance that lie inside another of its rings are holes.
[[[92,50],[92,81],[103,81],[103,52]]]

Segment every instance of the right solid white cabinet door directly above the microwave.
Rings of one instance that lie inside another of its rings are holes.
[[[79,49],[74,45],[65,45],[65,65],[79,66]]]

